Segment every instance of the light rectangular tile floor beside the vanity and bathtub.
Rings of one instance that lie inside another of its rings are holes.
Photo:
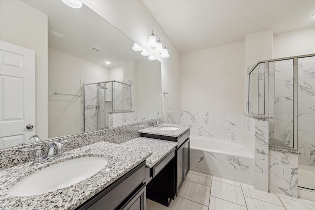
[[[263,192],[248,184],[190,171],[170,207],[147,199],[147,210],[315,210],[315,201]]]

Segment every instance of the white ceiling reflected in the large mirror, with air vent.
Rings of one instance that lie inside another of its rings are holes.
[[[106,67],[122,65],[126,60],[147,60],[132,50],[131,39],[84,4],[80,9],[73,9],[61,0],[24,2],[48,15],[48,47]],[[92,51],[92,47],[102,51]],[[105,64],[105,60],[111,64]]]

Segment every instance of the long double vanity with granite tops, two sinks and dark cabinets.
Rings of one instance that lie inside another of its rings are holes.
[[[125,142],[99,141],[3,169],[0,209],[145,210],[146,198],[168,206],[189,171],[189,127],[160,124]]]

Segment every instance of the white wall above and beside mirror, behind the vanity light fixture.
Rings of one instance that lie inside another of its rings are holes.
[[[82,0],[96,13],[125,33],[129,38],[146,47],[149,36],[154,30],[166,43],[170,57],[158,58],[161,61],[162,91],[169,93],[168,100],[162,97],[163,111],[180,111],[181,94],[181,54],[168,38],[157,20],[141,0]],[[152,53],[154,54],[154,53]]]

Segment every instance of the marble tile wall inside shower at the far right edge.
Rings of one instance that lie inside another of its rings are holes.
[[[315,167],[315,57],[298,59],[299,164]]]

